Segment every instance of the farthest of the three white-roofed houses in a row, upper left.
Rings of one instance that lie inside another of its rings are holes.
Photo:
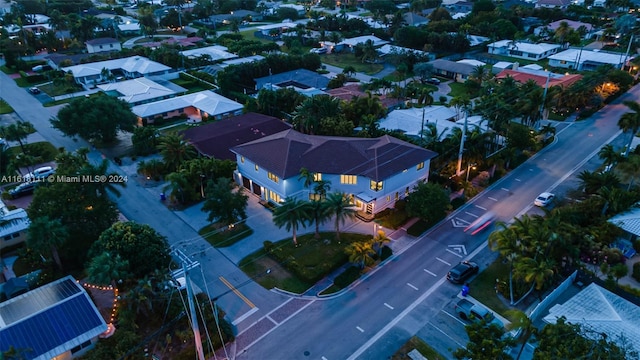
[[[61,70],[67,73],[71,72],[76,82],[89,84],[106,80],[102,78],[102,69],[107,69],[111,73],[120,71],[127,78],[161,75],[172,71],[170,67],[142,56],[74,65]]]

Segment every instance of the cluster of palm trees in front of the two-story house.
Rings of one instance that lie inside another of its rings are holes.
[[[355,217],[356,210],[351,205],[346,194],[341,192],[328,193],[330,183],[314,179],[314,173],[300,169],[300,180],[306,188],[313,186],[313,200],[305,201],[288,197],[273,212],[273,223],[279,228],[285,227],[292,232],[293,243],[298,245],[297,233],[300,227],[315,224],[315,237],[320,237],[320,225],[334,219],[336,240],[340,242],[340,225],[347,219]]]

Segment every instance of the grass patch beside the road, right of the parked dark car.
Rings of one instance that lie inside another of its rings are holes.
[[[507,311],[511,310],[496,293],[496,279],[500,281],[508,281],[509,264],[503,264],[502,260],[497,259],[469,284],[471,291],[469,294],[474,299],[483,303],[487,308],[497,312],[509,321],[514,321]],[[530,295],[531,296],[531,295]]]

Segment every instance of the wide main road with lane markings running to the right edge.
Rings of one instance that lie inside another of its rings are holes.
[[[469,204],[415,241],[351,291],[329,300],[309,299],[291,306],[288,317],[274,311],[239,334],[238,359],[382,359],[450,303],[459,287],[445,281],[452,264],[474,257],[486,266],[491,229],[462,232],[487,211],[509,221],[530,210],[539,193],[553,190],[620,134],[617,120],[627,111],[622,100],[638,99],[640,87],[587,121],[564,124],[557,140]],[[468,256],[456,251],[465,246]],[[302,301],[302,300],[300,300]],[[289,306],[285,306],[287,308]],[[294,311],[295,310],[295,311]],[[269,354],[265,357],[265,354]]]

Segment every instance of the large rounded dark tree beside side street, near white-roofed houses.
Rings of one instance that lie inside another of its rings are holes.
[[[137,122],[129,104],[111,96],[78,97],[52,118],[54,128],[68,136],[113,142],[118,131],[133,131]]]

